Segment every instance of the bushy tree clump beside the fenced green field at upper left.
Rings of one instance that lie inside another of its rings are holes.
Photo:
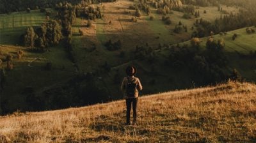
[[[22,35],[22,41],[26,47],[39,47],[38,50],[45,50],[46,47],[58,44],[61,38],[61,26],[56,20],[49,20],[36,30],[29,26],[26,33]]]

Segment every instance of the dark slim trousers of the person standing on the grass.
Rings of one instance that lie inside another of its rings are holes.
[[[131,107],[133,110],[133,122],[136,123],[138,98],[126,99],[126,123],[130,123]]]

